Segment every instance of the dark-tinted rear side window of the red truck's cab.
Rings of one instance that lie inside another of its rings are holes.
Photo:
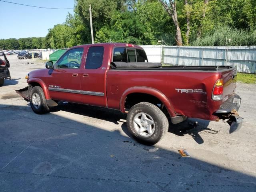
[[[104,47],[92,46],[89,48],[85,61],[86,69],[98,69],[102,66]]]

